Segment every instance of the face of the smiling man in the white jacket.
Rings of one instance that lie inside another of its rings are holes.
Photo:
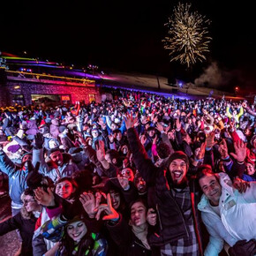
[[[201,177],[200,187],[211,204],[213,206],[218,206],[222,195],[222,187],[216,177],[212,174],[207,174],[207,176]]]

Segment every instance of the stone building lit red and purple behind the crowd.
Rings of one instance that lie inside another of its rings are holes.
[[[2,56],[0,66],[0,107],[102,101],[91,74],[59,64],[8,57]]]

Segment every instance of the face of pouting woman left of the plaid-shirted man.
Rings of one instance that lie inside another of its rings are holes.
[[[147,221],[147,208],[141,202],[136,202],[131,208],[131,221],[132,225],[140,226]]]

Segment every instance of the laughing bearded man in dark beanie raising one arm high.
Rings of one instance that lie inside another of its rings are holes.
[[[154,188],[148,202],[158,217],[154,231],[147,235],[149,245],[157,247],[161,255],[203,255],[197,211],[200,190],[186,177],[188,157],[177,151],[170,154],[164,168],[157,168],[139,141],[135,122],[136,117],[126,116],[127,137],[136,169]]]

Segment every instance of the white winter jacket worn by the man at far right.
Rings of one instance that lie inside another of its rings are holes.
[[[230,246],[238,240],[256,238],[256,182],[245,193],[232,188],[230,177],[220,173],[222,196],[219,201],[221,217],[213,211],[205,195],[198,208],[210,234],[210,241],[204,252],[207,256],[218,255],[224,241]]]

